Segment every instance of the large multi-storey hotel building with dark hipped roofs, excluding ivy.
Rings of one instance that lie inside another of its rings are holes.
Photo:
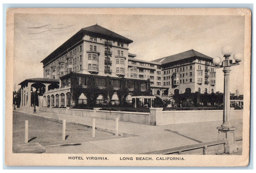
[[[41,62],[44,78],[27,79],[21,82],[21,106],[30,106],[31,87],[46,90],[39,101],[40,106],[72,106],[70,73],[75,73],[79,84],[86,88],[87,80],[93,77],[98,87],[106,86],[109,76],[115,90],[120,88],[122,78],[130,94],[131,102],[134,83],[140,84],[141,91],[148,90],[148,82],[153,95],[162,98],[175,93],[215,92],[216,70],[212,58],[195,50],[154,61],[135,59],[128,46],[133,40],[123,37],[99,25],[82,28]],[[149,80],[149,81],[148,81]],[[86,102],[81,95],[80,103]],[[99,96],[98,102],[102,101]],[[116,94],[113,103],[118,102]]]

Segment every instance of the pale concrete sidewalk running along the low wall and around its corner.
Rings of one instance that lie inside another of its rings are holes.
[[[16,111],[33,114],[33,107],[29,109],[17,108]],[[37,112],[37,116],[65,119],[67,123],[92,125],[93,118],[56,114],[49,112]],[[217,140],[218,130],[222,121],[169,124],[151,126],[137,123],[119,121],[119,134],[121,132],[131,134],[120,139],[109,139],[81,143],[81,145],[46,146],[47,153],[91,153],[91,154],[137,154],[197,144]],[[237,127],[236,136],[242,136],[242,120],[232,120],[231,124]],[[95,127],[115,131],[115,121],[96,118]],[[96,134],[97,135],[97,134]]]

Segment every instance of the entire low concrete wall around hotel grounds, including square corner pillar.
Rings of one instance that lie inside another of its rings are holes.
[[[115,118],[118,117],[119,121],[147,125],[164,125],[223,120],[222,110],[162,111],[162,108],[151,108],[150,113],[143,113],[102,111],[99,109],[100,108],[94,108],[94,110],[85,110],[39,107],[39,111],[44,112],[78,115],[92,118],[101,118],[106,120],[115,120]],[[230,120],[237,120],[242,118],[243,110],[230,110]]]

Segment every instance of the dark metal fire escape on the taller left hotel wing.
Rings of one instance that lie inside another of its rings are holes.
[[[104,72],[105,72],[105,74],[111,74],[112,70],[110,70],[110,66],[112,65],[112,61],[110,60],[110,57],[112,57],[112,52],[110,51],[110,48],[112,48],[112,42],[109,41],[109,40],[106,40],[104,42],[104,47],[105,47],[105,51],[104,51],[104,55],[105,55],[105,60],[104,60],[105,68],[104,68]]]

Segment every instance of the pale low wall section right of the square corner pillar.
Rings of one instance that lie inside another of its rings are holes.
[[[230,120],[243,119],[243,110],[230,110]],[[223,110],[163,111],[163,124],[194,123],[223,120]]]

